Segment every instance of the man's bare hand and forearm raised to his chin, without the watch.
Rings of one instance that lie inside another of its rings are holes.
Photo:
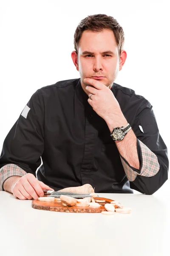
[[[86,78],[84,81],[85,84],[94,86],[85,87],[89,94],[93,94],[91,99],[88,99],[88,103],[92,106],[94,111],[105,120],[109,130],[112,131],[115,126],[121,127],[127,125],[127,120],[112,91],[100,81],[90,78]],[[136,148],[136,136],[132,129],[127,133],[125,139],[115,141],[115,143],[119,153],[127,160],[130,166],[139,170],[140,164]]]

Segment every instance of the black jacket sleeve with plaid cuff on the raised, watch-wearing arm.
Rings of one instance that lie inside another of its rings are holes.
[[[159,134],[156,118],[148,101],[139,109],[133,131],[137,138],[140,169],[133,168],[120,156],[122,165],[130,181],[130,188],[152,195],[167,180],[169,162],[167,147]]]

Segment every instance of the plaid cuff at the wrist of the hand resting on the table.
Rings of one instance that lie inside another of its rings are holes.
[[[11,176],[24,176],[27,172],[25,172],[22,168],[15,164],[6,164],[0,169],[0,191],[4,191],[3,183],[6,179]]]

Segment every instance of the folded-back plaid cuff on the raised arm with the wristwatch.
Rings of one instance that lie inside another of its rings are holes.
[[[160,169],[158,158],[144,143],[137,139],[137,144],[140,146],[141,151],[141,167],[140,171],[130,166],[127,161],[120,155],[123,168],[129,181],[134,181],[137,175],[144,177],[155,176]],[[140,162],[139,160],[139,162]]]

